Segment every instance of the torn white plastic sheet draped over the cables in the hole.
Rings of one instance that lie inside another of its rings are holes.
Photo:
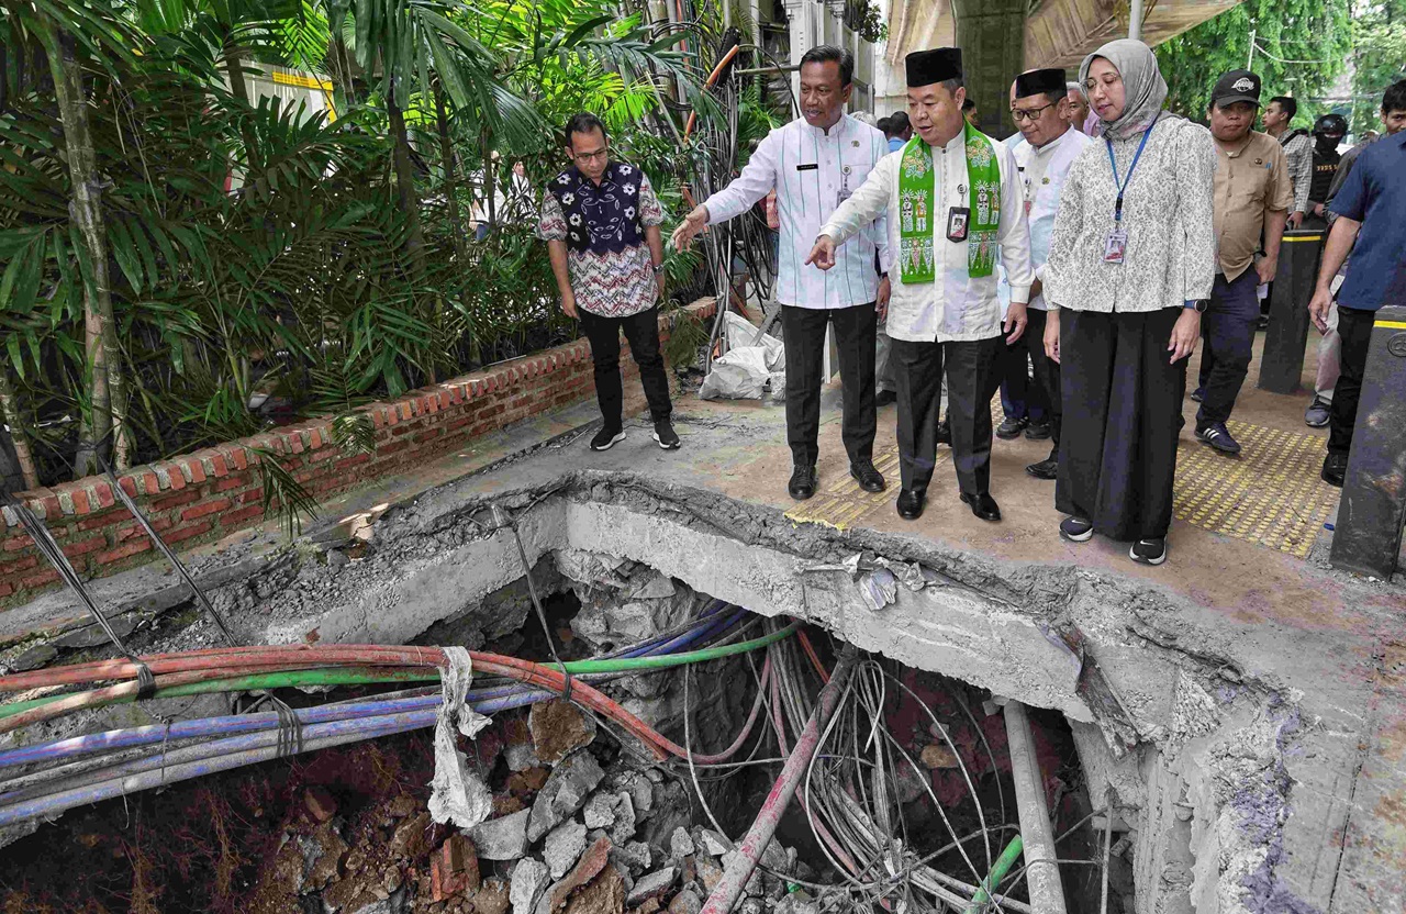
[[[444,700],[434,721],[434,778],[430,780],[430,816],[437,823],[472,828],[488,818],[494,797],[488,785],[468,769],[468,759],[458,751],[456,733],[474,738],[489,724],[488,717],[468,706],[468,685],[474,681],[474,661],[463,647],[444,648]]]

